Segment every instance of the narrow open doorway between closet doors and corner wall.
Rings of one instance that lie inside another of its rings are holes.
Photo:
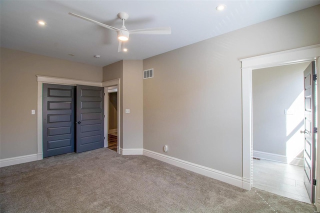
[[[107,147],[117,151],[118,147],[118,92],[117,86],[107,88]]]

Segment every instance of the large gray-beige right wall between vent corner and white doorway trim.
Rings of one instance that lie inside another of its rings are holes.
[[[143,148],[241,176],[238,59],[320,43],[319,19],[317,5],[144,59]]]

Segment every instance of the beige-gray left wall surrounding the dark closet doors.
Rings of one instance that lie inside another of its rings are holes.
[[[102,67],[7,48],[0,49],[0,158],[37,152],[37,75],[101,82]],[[3,92],[5,91],[5,92]]]

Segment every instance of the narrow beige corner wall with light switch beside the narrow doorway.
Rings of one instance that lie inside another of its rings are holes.
[[[120,147],[143,147],[142,60],[121,60],[103,67],[103,81],[120,78]],[[130,113],[123,113],[125,109]]]

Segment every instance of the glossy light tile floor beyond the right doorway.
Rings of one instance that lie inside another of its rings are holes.
[[[253,159],[253,187],[311,203],[303,183],[303,167]]]

